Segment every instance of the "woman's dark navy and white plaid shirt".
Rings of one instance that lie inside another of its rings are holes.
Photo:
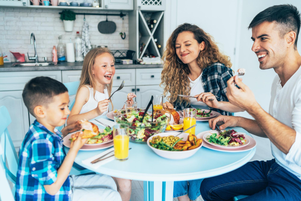
[[[211,92],[216,97],[217,101],[228,101],[226,96],[227,81],[233,76],[232,70],[219,62],[213,63],[210,66],[203,69],[202,84],[204,92]],[[189,95],[189,94],[185,94]],[[196,94],[192,94],[196,95]],[[184,108],[190,108],[190,105],[186,105],[185,102],[181,104],[176,101],[175,108],[183,110]],[[209,107],[210,108],[210,107]],[[213,111],[217,111],[222,115],[232,115],[231,112],[223,111],[216,108],[210,108]]]

